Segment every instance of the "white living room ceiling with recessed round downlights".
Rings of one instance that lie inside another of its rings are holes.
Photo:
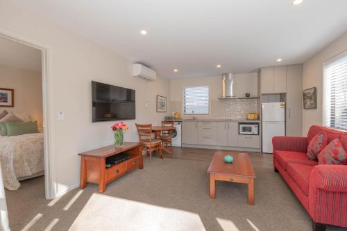
[[[248,73],[278,57],[303,63],[346,32],[346,0],[292,1],[19,0],[164,77]]]

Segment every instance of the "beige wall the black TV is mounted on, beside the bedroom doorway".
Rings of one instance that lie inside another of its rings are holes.
[[[127,141],[137,140],[135,122],[159,124],[166,115],[157,113],[155,104],[156,95],[169,97],[169,81],[163,77],[153,82],[133,77],[130,60],[16,4],[0,1],[0,31],[11,31],[50,48],[51,155],[56,169],[53,172],[56,193],[61,194],[78,186],[77,154],[113,142],[112,122],[92,123],[91,81],[136,90],[137,119],[126,121],[130,125],[130,131],[125,134]],[[65,113],[65,120],[58,120],[59,111]]]

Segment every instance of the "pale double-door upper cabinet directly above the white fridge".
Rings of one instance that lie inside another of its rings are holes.
[[[287,92],[287,66],[264,67],[260,69],[260,93]]]

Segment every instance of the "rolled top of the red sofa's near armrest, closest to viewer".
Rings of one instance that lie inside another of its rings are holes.
[[[310,187],[347,192],[347,165],[316,165],[310,174]]]

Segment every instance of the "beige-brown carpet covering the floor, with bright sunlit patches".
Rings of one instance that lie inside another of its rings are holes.
[[[164,160],[144,158],[144,169],[110,183],[104,194],[88,184],[49,201],[44,177],[22,181],[19,190],[6,190],[11,230],[312,230],[268,154],[250,154],[255,205],[247,204],[247,187],[238,183],[217,182],[210,199],[206,171],[213,153],[175,148]]]

